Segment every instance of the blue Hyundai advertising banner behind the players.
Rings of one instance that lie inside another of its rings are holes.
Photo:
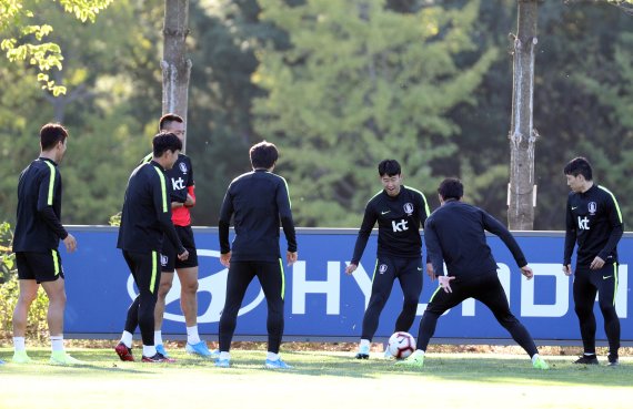
[[[63,246],[60,247],[68,295],[64,333],[71,337],[119,335],[123,329],[127,308],[137,293],[121,252],[115,248],[118,229],[107,226],[72,226],[69,231],[77,237],[79,247],[73,254],[67,254]],[[194,233],[200,262],[199,330],[205,338],[215,339],[224,305],[228,270],[219,262],[217,228],[195,227]],[[579,340],[572,279],[561,270],[563,233],[521,232],[515,237],[534,269],[532,280],[526,280],[520,274],[503,243],[495,236],[489,237],[512,311],[535,339]],[[285,340],[335,341],[356,340],[360,337],[375,266],[376,236],[374,232],[359,268],[348,276],[344,269],[355,238],[355,229],[298,229],[299,260],[293,266],[285,267]],[[285,248],[283,234],[281,248]],[[622,323],[622,340],[630,342],[633,341],[633,311],[629,301],[629,265],[633,262],[633,235],[624,235],[619,253],[621,265],[615,304]],[[410,330],[414,335],[425,303],[436,286],[436,282],[432,283],[424,273],[419,317]],[[374,340],[382,340],[393,333],[401,305],[402,290],[396,282],[381,315]],[[597,304],[595,311],[596,338],[604,340]],[[240,309],[237,339],[265,339],[265,300],[254,279]],[[185,334],[178,275],[167,298],[162,329],[167,338],[182,339]],[[485,306],[469,299],[440,319],[435,338],[494,342],[508,340],[510,336]]]

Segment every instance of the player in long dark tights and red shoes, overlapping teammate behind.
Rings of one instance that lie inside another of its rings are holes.
[[[133,361],[132,335],[139,326],[143,339],[142,361],[173,362],[154,346],[154,307],[161,276],[159,263],[163,235],[177,249],[179,259],[185,260],[189,256],[171,222],[165,174],[178,160],[182,142],[173,133],[159,133],[152,145],[152,161],[139,165],[128,181],[121,212],[117,247],[123,252],[139,295],[128,309],[125,330],[114,350],[121,360]]]

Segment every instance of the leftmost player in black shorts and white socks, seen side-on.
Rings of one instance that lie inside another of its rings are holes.
[[[63,313],[66,289],[59,241],[68,253],[77,249],[77,241],[61,224],[61,174],[58,170],[68,145],[68,131],[48,123],[40,130],[40,157],[20,174],[18,183],[18,221],[13,234],[13,252],[18,265],[20,295],[13,311],[13,362],[29,364],[24,347],[27,316],[40,284],[49,297],[47,315],[52,346],[51,364],[82,364],[64,351]]]

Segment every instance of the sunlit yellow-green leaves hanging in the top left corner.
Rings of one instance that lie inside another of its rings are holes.
[[[59,0],[67,13],[78,20],[94,22],[97,14],[104,10],[112,0]],[[66,93],[63,85],[58,85],[47,74],[53,68],[62,69],[63,55],[59,44],[42,42],[52,32],[50,24],[41,22],[32,7],[24,0],[0,0],[0,35],[3,37],[0,49],[11,62],[26,61],[38,68],[38,81],[53,95]]]

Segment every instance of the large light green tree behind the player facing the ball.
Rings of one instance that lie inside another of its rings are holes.
[[[473,49],[468,33],[479,2],[406,13],[379,0],[260,4],[292,48],[258,53],[253,81],[268,94],[254,102],[255,130],[280,144],[299,223],[358,225],[385,157],[402,163],[408,184],[433,192],[432,164],[459,155],[450,140],[459,130],[446,114],[473,103],[496,55],[491,49],[469,67],[455,64]]]

